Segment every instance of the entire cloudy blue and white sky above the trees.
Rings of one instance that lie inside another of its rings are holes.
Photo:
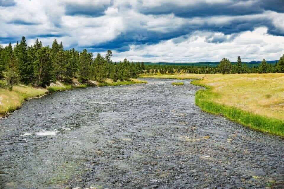
[[[0,44],[62,41],[113,61],[278,60],[284,0],[0,0]]]

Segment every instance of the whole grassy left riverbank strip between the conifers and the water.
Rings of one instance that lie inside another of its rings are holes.
[[[7,115],[9,112],[17,110],[25,100],[42,97],[43,95],[56,91],[84,88],[88,86],[101,87],[139,83],[147,82],[139,79],[130,79],[129,81],[117,82],[114,82],[111,79],[105,79],[104,82],[89,81],[84,84],[79,84],[78,80],[73,78],[72,84],[66,84],[57,81],[56,83],[51,83],[49,87],[46,87],[46,89],[42,87],[26,86],[22,84],[14,86],[12,91],[0,88],[0,117]]]

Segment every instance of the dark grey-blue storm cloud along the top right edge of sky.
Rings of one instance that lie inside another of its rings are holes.
[[[284,12],[283,0],[271,1],[232,1],[229,3],[199,3],[179,5],[172,3],[161,3],[161,6],[141,6],[139,11],[143,14],[175,14],[183,18],[207,17],[207,16],[236,16],[247,14],[259,14],[265,10]]]

